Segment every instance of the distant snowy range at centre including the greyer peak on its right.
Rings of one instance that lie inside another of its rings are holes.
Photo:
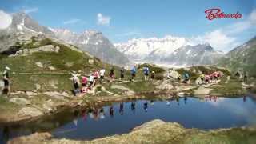
[[[207,43],[197,44],[188,38],[172,36],[132,39],[115,46],[135,62],[174,66],[208,65],[223,55]]]

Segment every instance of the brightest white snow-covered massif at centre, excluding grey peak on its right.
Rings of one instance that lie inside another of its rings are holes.
[[[114,46],[135,61],[141,61],[149,56],[166,57],[179,47],[189,44],[186,38],[166,36],[165,38],[134,38],[127,43],[117,43]]]

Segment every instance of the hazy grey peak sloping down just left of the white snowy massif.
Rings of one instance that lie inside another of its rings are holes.
[[[86,30],[82,34],[76,34],[65,29],[51,30],[57,38],[78,46],[103,61],[117,65],[126,65],[129,62],[126,55],[118,51],[101,32]]]

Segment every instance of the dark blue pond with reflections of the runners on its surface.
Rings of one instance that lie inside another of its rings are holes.
[[[68,113],[38,122],[28,122],[26,125],[2,126],[0,143],[20,135],[50,130],[54,130],[53,134],[60,138],[97,138],[109,134],[122,134],[130,130],[130,127],[138,126],[138,123],[149,122],[155,118],[166,122],[179,122],[187,128],[206,130],[244,126],[256,120],[256,105],[250,97],[206,96],[202,100],[204,101],[190,97],[175,97],[165,102],[141,100],[115,103],[100,108],[70,110]],[[135,115],[136,104],[138,114]],[[119,114],[114,115],[114,110]],[[198,113],[203,116],[195,117]],[[115,128],[112,130],[113,126]]]

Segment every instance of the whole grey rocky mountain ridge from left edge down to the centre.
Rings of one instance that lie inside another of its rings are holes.
[[[104,62],[124,65],[129,62],[125,54],[119,52],[101,32],[86,30],[76,34],[70,30],[52,29],[41,26],[26,13],[12,14],[12,22],[4,30],[0,30],[0,52],[14,46],[16,42],[30,40],[32,36],[44,34],[49,38],[58,38],[64,42],[78,46],[81,50],[93,54]]]

